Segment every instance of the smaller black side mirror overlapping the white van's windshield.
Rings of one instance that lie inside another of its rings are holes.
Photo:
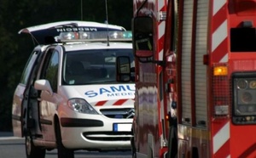
[[[131,81],[131,63],[129,56],[119,56],[116,59],[116,81],[130,82]]]

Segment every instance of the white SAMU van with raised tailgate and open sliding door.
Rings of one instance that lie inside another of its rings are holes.
[[[38,42],[13,100],[15,136],[26,156],[74,150],[130,150],[134,82],[116,82],[115,60],[130,56],[131,32],[96,22],[62,21],[23,29]],[[130,42],[127,42],[130,37]]]

